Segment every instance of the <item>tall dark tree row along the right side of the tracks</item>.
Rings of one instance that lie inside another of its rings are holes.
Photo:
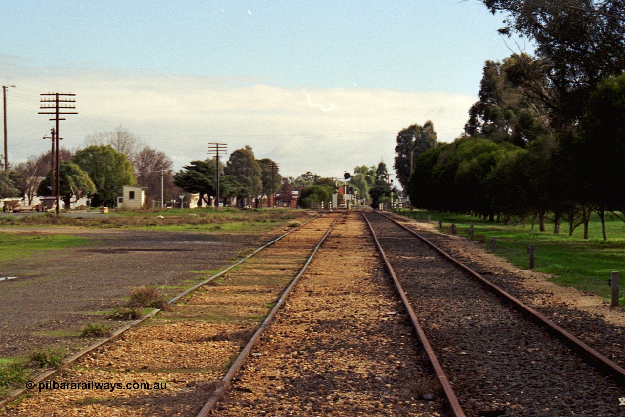
[[[419,142],[431,122],[399,133],[395,168],[412,205],[504,222],[532,217],[541,230],[551,219],[555,233],[562,223],[569,234],[584,225],[586,238],[595,213],[607,239],[606,213],[625,221],[622,1],[480,3],[504,13],[500,33],[531,39],[534,54],[486,61],[479,100],[453,143],[431,133]]]

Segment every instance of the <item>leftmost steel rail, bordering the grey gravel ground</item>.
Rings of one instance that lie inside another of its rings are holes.
[[[317,219],[317,217],[318,216],[312,217],[312,219],[307,220],[306,222],[304,222],[299,227],[297,227],[295,229],[291,229],[288,232],[278,236],[276,239],[271,240],[271,242],[262,245],[258,249],[254,250],[254,252],[252,252],[249,255],[246,255],[246,257],[242,258],[241,260],[239,260],[235,264],[232,264],[229,267],[227,267],[226,269],[221,270],[220,272],[217,272],[217,274],[214,274],[211,277],[208,277],[207,279],[205,279],[204,281],[200,282],[199,284],[196,284],[196,285],[192,286],[191,288],[186,289],[185,291],[183,291],[180,294],[178,294],[178,296],[173,297],[171,300],[169,300],[168,304],[174,304],[174,303],[178,302],[179,299],[181,299],[182,297],[190,294],[193,291],[196,291],[196,289],[198,289],[199,287],[205,286],[206,284],[208,284],[209,282],[213,281],[214,279],[216,279],[218,277],[221,277],[221,275],[226,274],[226,272],[228,272],[229,270],[234,269],[235,267],[237,267],[237,266],[241,265],[243,262],[245,262],[247,259],[249,259],[252,256],[256,255],[258,252],[261,252],[261,250],[266,249],[267,247],[269,247],[272,244],[275,244],[278,240],[281,240],[283,237],[286,237],[286,235],[289,235],[292,232],[301,229],[302,226],[308,224],[309,222],[312,222],[312,220]],[[147,312],[140,319],[136,319],[135,321],[133,321],[133,322],[131,322],[129,324],[126,324],[126,326],[123,326],[123,327],[117,329],[116,331],[113,332],[113,334],[111,334],[111,336],[104,337],[103,339],[100,339],[99,341],[94,342],[93,344],[90,344],[89,346],[87,346],[86,348],[82,349],[81,351],[73,354],[68,359],[64,359],[63,360],[63,364],[61,366],[68,366],[68,365],[73,364],[76,360],[82,358],[83,356],[85,356],[88,353],[93,352],[95,349],[98,349],[103,344],[106,344],[106,343],[108,343],[110,341],[113,341],[114,339],[117,339],[124,332],[129,331],[130,329],[132,329],[133,327],[137,326],[138,324],[146,321],[147,319],[149,319],[149,318],[151,318],[153,316],[156,316],[156,314],[159,311],[161,311],[161,309],[153,309],[153,310]],[[35,383],[35,384],[37,384],[37,383],[39,383],[41,381],[45,381],[46,379],[50,378],[54,374],[58,373],[59,370],[60,370],[60,367],[59,368],[55,368],[55,369],[48,369],[47,371],[44,371],[41,374],[37,375],[36,377],[32,378],[31,381],[33,383]],[[11,394],[9,394],[9,396],[7,396],[6,398],[4,398],[4,399],[2,399],[0,401],[0,409],[2,407],[6,406],[7,404],[9,404],[11,401],[14,401],[15,399],[17,399],[19,396],[21,396],[22,394],[26,393],[27,391],[29,391],[29,389],[27,389],[27,388],[17,388],[17,389],[15,389],[14,391],[11,392]]]

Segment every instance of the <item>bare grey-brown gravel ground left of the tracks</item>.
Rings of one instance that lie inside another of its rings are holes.
[[[140,286],[189,287],[211,270],[232,264],[274,234],[229,235],[143,230],[10,229],[26,234],[71,234],[93,244],[41,252],[0,264],[0,355],[23,356],[44,346],[75,351],[87,322],[118,323],[98,314]],[[203,273],[201,273],[203,271]],[[176,288],[172,293],[178,293]]]

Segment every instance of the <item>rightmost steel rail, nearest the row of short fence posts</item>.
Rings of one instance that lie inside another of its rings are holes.
[[[509,304],[511,304],[511,306],[515,307],[518,311],[520,311],[526,317],[536,322],[537,324],[545,327],[547,331],[551,332],[551,334],[556,336],[562,342],[566,343],[574,352],[579,354],[579,356],[581,356],[581,358],[583,358],[587,363],[591,364],[592,366],[594,366],[594,368],[601,371],[602,373],[607,374],[608,376],[611,376],[612,378],[614,378],[615,381],[619,385],[625,386],[625,369],[621,368],[621,366],[618,366],[616,363],[612,362],[606,356],[602,355],[595,349],[591,348],[591,346],[589,346],[588,344],[577,339],[577,337],[573,336],[571,333],[567,332],[565,329],[558,326],[556,323],[552,322],[550,319],[543,316],[541,313],[532,309],[532,307],[527,306],[527,304],[524,304],[524,302],[512,296],[512,294],[509,294],[509,292],[504,291],[503,289],[493,284],[491,281],[482,277],[482,275],[478,274],[477,272],[469,268],[467,265],[462,264],[462,262],[455,259],[451,255],[447,254],[447,252],[445,252],[441,248],[434,245],[432,242],[427,240],[422,235],[418,234],[414,230],[409,229],[405,225],[402,225],[401,223],[397,222],[397,220],[392,219],[392,217],[390,217],[389,215],[386,215],[383,213],[378,213],[378,214],[386,217],[387,219],[391,220],[391,222],[394,222],[394,224],[398,225],[399,227],[402,227],[402,229],[407,230],[411,234],[415,235],[417,238],[421,239],[427,245],[432,247],[432,249],[439,252],[439,254],[443,255],[452,263],[456,264],[458,267],[463,269],[465,272],[472,275],[472,277],[474,277],[475,279],[477,279],[478,282],[480,282],[482,285],[490,289],[494,294],[499,296],[503,301],[508,302]]]

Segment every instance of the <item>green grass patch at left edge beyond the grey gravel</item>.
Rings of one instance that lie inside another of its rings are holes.
[[[22,259],[33,252],[88,245],[91,239],[69,235],[21,235],[0,232],[0,262]]]

